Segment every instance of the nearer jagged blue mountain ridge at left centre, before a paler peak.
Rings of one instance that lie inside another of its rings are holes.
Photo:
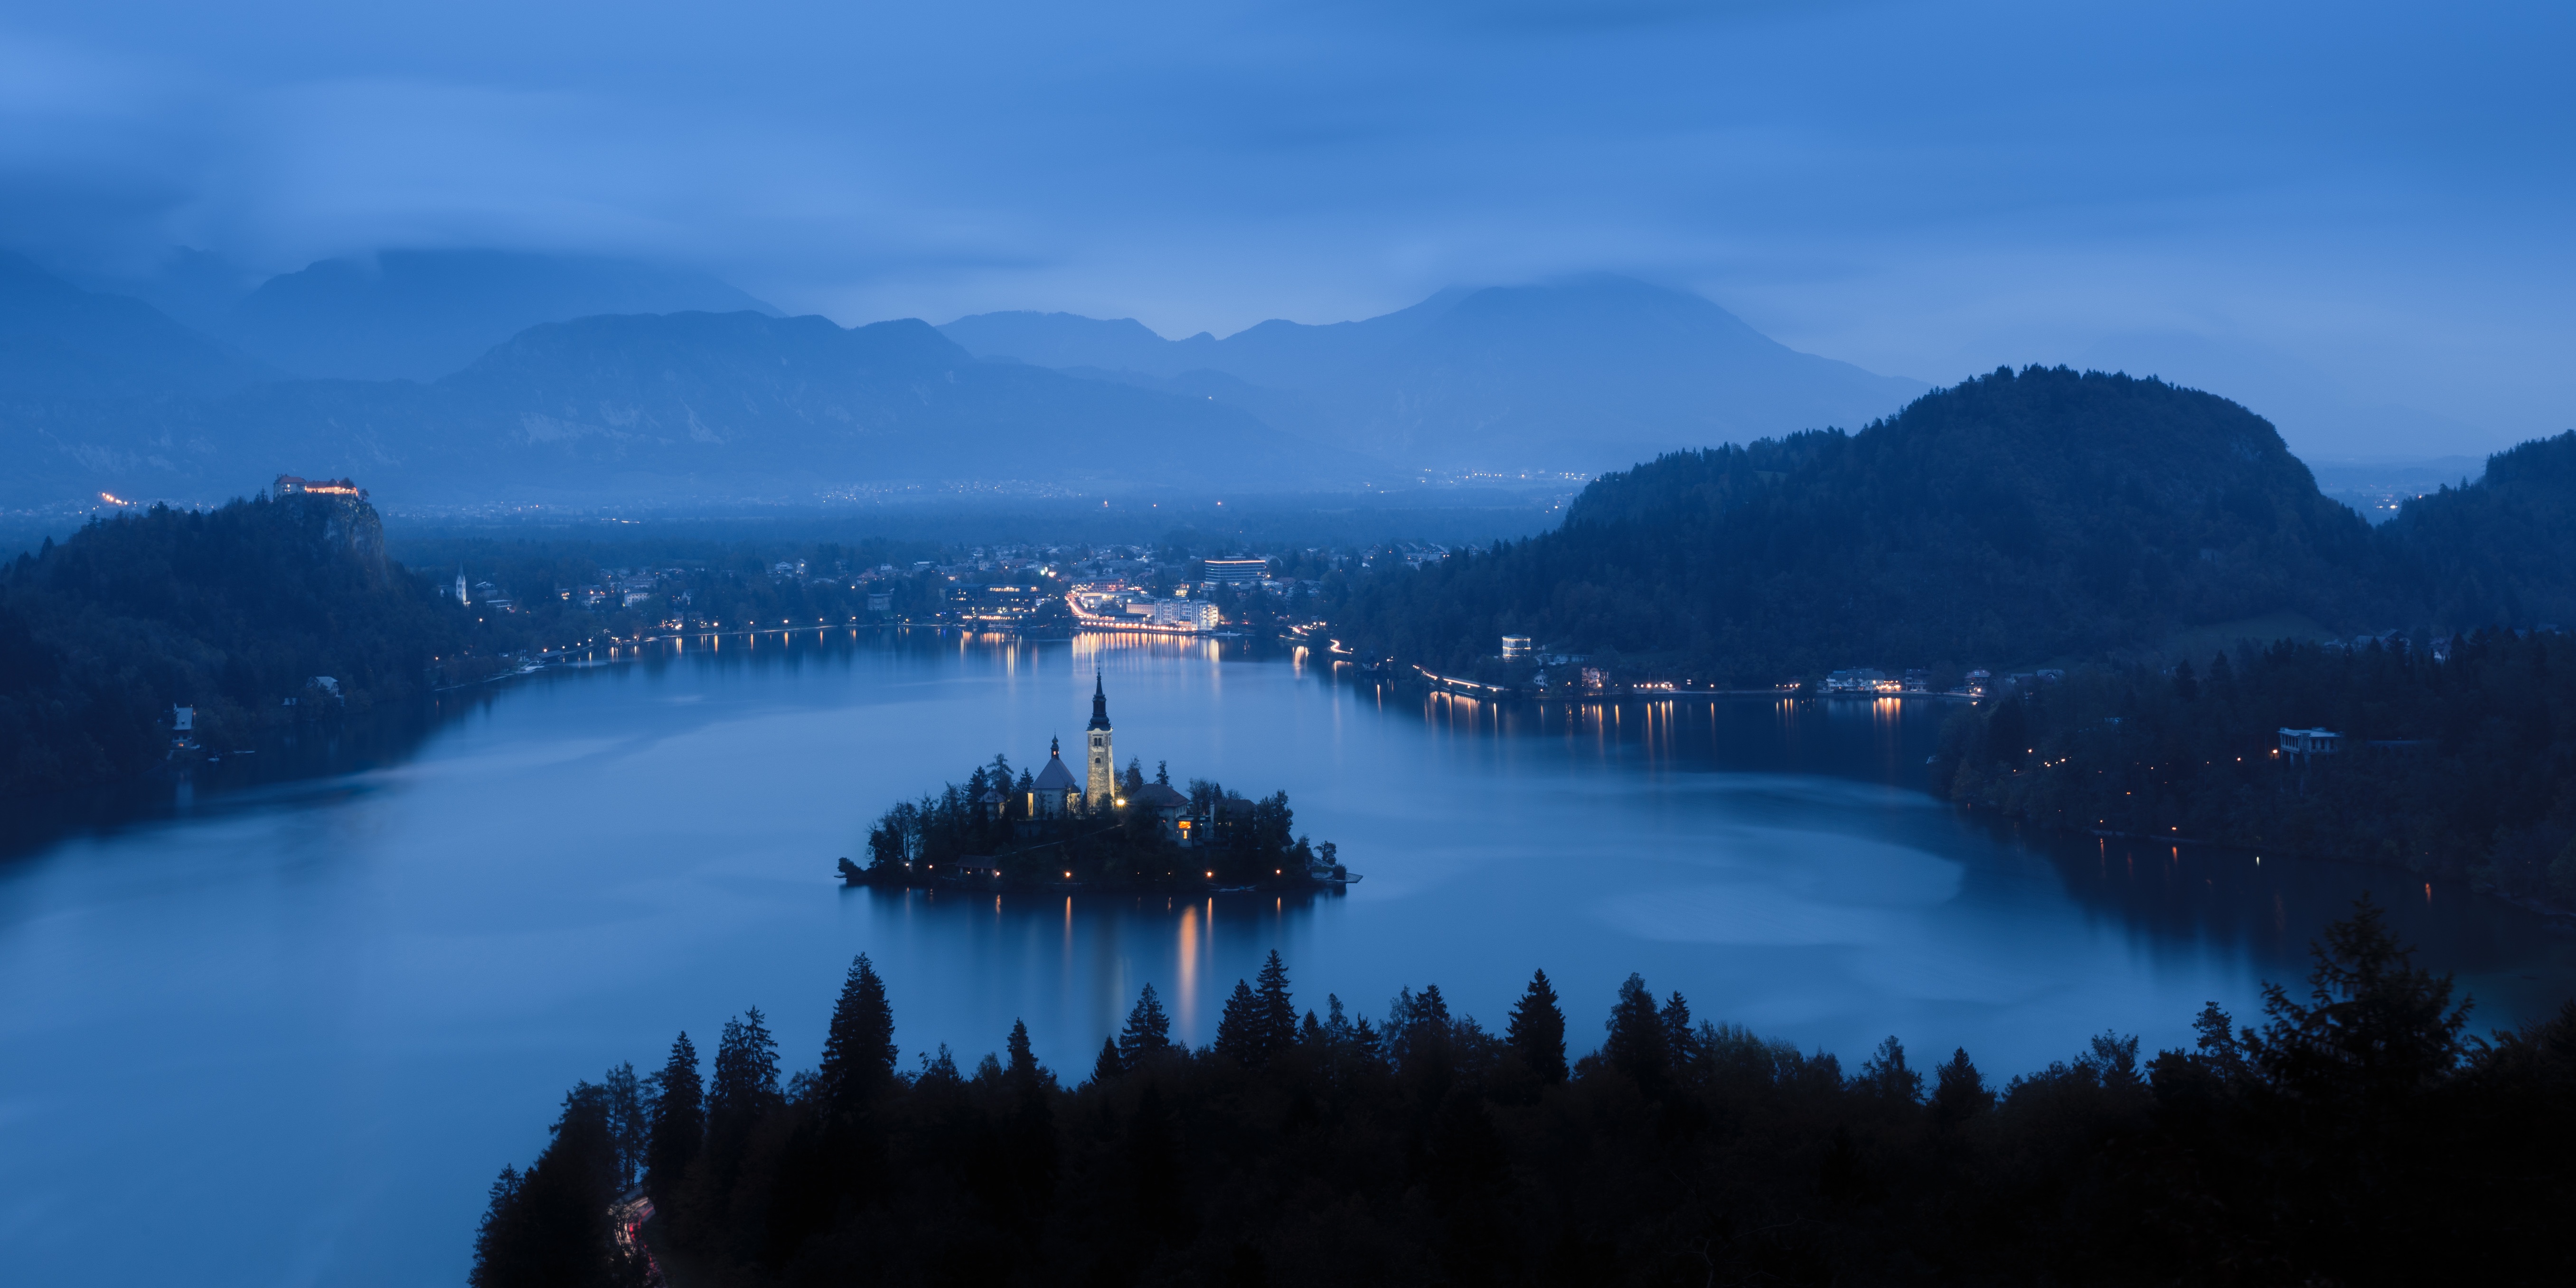
[[[943,482],[1350,477],[1249,415],[1020,363],[927,322],[613,314],[528,327],[430,384],[265,384],[211,410],[270,453],[438,497],[817,497]]]

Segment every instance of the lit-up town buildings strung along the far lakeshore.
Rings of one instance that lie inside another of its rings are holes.
[[[355,492],[348,479],[304,487],[281,477],[278,492]],[[1144,544],[994,544],[945,546],[930,559],[868,559],[881,549],[814,544],[799,559],[747,567],[672,562],[603,567],[587,582],[513,585],[500,567],[440,569],[440,590],[495,621],[518,613],[580,611],[564,644],[528,649],[520,662],[616,657],[636,644],[680,644],[726,636],[775,636],[829,626],[912,626],[1020,639],[1133,634],[1180,639],[1265,639],[1306,649],[1334,672],[1479,701],[1574,698],[1662,701],[1713,696],[1798,698],[1989,698],[2063,680],[2058,667],[1839,667],[1785,675],[1762,688],[1710,680],[1662,657],[1566,652],[1530,634],[1486,636],[1481,657],[1440,670],[1370,654],[1334,636],[1332,618],[1352,587],[1383,574],[1437,569],[1476,559],[1479,546],[1386,541],[1373,546],[1244,546],[1193,554]],[[551,567],[546,572],[554,572]],[[554,629],[567,636],[567,629]]]

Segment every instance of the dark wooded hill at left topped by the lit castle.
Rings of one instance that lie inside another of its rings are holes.
[[[90,523],[0,567],[0,796],[147,770],[173,703],[229,750],[265,724],[415,696],[464,631],[464,608],[384,556],[355,497]]]

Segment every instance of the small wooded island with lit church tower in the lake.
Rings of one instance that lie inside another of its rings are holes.
[[[1206,778],[1182,791],[1167,765],[1146,781],[1141,760],[1121,773],[1097,675],[1082,778],[1064,762],[1061,739],[1048,742],[1036,773],[994,755],[963,786],[948,783],[878,817],[866,855],[866,863],[840,860],[845,884],[1311,891],[1358,881],[1332,842],[1296,835],[1285,791],[1255,801]]]

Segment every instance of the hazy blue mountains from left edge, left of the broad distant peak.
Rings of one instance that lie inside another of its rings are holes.
[[[0,459],[10,464],[0,502],[224,497],[265,482],[252,471],[273,466],[260,461],[366,477],[389,500],[435,505],[809,502],[943,484],[1260,492],[1386,479],[1383,461],[1283,433],[1211,392],[979,361],[917,319],[567,317],[572,307],[677,307],[703,301],[701,286],[724,289],[541,260],[394,255],[371,283],[348,265],[317,265],[263,289],[237,317],[240,335],[312,374],[461,363],[415,384],[286,379],[144,301],[80,291],[0,255]],[[567,319],[492,343],[510,317],[546,314]]]

